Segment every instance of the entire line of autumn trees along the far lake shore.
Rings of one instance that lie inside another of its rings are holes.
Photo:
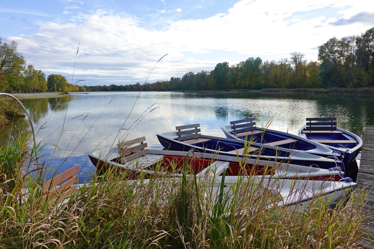
[[[266,60],[250,57],[229,65],[220,62],[215,68],[187,72],[183,77],[155,83],[129,85],[78,86],[67,83],[62,75],[49,75],[25,66],[25,59],[16,50],[17,44],[1,43],[0,89],[28,91],[162,91],[223,90],[263,88],[361,88],[374,87],[374,27],[361,35],[332,37],[318,47],[318,62],[307,61],[301,52],[289,58]]]

